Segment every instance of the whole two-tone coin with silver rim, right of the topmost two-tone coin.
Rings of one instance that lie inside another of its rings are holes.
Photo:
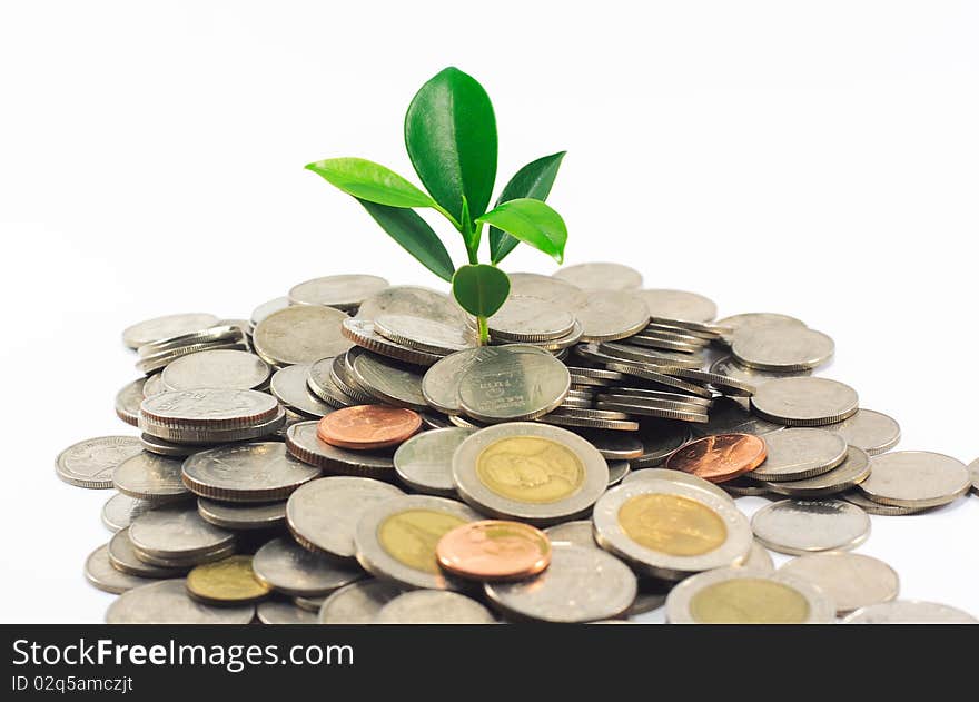
[[[603,548],[663,580],[736,565],[752,545],[748,518],[730,498],[682,483],[644,479],[613,487],[592,520]]]

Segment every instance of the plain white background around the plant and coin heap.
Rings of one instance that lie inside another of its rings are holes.
[[[81,575],[110,493],[52,463],[135,432],[112,413],[137,375],[125,326],[248,316],[333,273],[437,286],[303,166],[363,156],[415,179],[404,110],[451,63],[493,99],[501,185],[568,150],[550,200],[567,263],[797,315],[901,448],[976,459],[977,7],[3,3],[0,621],[98,622],[112,599]],[[526,247],[507,264],[554,269]],[[979,613],[977,533],[970,496],[874,517],[860,551],[902,596]]]

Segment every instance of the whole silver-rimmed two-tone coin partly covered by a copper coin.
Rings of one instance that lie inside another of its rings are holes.
[[[403,587],[458,590],[438,567],[435,547],[446,533],[479,515],[454,500],[405,495],[363,511],[354,532],[357,561],[376,577]]]

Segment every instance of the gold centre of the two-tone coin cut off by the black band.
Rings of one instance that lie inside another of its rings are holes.
[[[804,624],[810,607],[794,587],[741,577],[698,592],[690,601],[690,614],[701,624]]]

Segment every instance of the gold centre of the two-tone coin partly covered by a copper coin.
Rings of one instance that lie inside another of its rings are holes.
[[[438,573],[435,547],[448,532],[466,523],[435,510],[406,510],[392,514],[377,528],[377,541],[389,556],[425,573]]]

